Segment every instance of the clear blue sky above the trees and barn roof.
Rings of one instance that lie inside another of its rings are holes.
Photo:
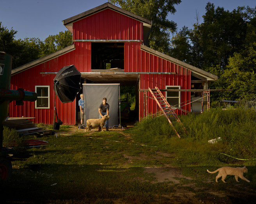
[[[56,35],[67,30],[62,20],[92,9],[107,0],[0,0],[0,21],[9,30],[18,31],[15,39],[40,38]],[[215,8],[224,7],[232,11],[238,6],[254,8],[256,0],[182,0],[176,5],[177,12],[168,17],[177,23],[178,30],[183,26],[192,28],[196,22],[196,12],[202,23],[207,2],[214,3]]]

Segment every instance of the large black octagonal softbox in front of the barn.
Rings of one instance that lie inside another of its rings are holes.
[[[81,89],[81,73],[74,65],[62,67],[53,79],[53,89],[62,103],[73,102]]]

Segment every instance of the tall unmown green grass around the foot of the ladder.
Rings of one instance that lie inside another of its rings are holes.
[[[200,148],[228,154],[244,159],[256,158],[256,113],[238,107],[232,110],[213,108],[204,113],[180,116],[187,133],[177,122],[176,134],[164,116],[149,117],[135,124],[131,133],[140,135],[140,142],[150,145]],[[209,144],[210,139],[221,138],[216,144]]]

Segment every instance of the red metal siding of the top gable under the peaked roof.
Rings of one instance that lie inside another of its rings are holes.
[[[143,23],[105,9],[73,23],[73,40],[143,40]]]

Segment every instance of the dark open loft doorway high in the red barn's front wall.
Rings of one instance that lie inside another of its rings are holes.
[[[92,70],[124,69],[124,42],[92,42]]]

